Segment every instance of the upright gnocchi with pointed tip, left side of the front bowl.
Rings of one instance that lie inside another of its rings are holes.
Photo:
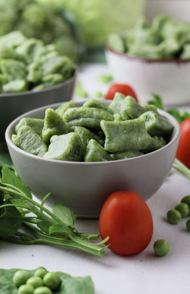
[[[42,129],[43,141],[49,145],[52,136],[67,133],[67,126],[64,119],[54,109],[47,108],[44,118],[44,127]]]

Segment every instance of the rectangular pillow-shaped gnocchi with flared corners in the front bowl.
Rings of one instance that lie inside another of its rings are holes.
[[[147,149],[151,136],[145,128],[144,118],[128,121],[101,121],[101,128],[106,136],[104,148],[109,152]]]

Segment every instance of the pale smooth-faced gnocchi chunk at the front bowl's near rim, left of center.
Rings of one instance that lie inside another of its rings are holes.
[[[50,140],[48,151],[44,154],[44,158],[81,161],[82,142],[78,133],[68,133],[60,136],[53,136]]]

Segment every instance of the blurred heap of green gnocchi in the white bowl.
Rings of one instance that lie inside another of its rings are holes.
[[[159,14],[149,24],[140,17],[126,36],[111,34],[108,44],[114,51],[148,59],[190,59],[190,23]]]

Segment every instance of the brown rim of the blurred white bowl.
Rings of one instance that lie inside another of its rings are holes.
[[[117,52],[112,50],[108,45],[106,45],[105,47],[106,51],[110,51],[112,53],[115,53],[119,56],[125,56],[126,59],[130,59],[130,60],[139,60],[142,62],[146,62],[146,63],[188,63],[190,62],[190,58],[189,59],[179,59],[179,58],[173,58],[173,59],[150,59],[150,58],[145,58],[145,57],[141,57],[141,56],[136,56],[136,55],[129,55],[127,53],[123,53],[123,52]]]

